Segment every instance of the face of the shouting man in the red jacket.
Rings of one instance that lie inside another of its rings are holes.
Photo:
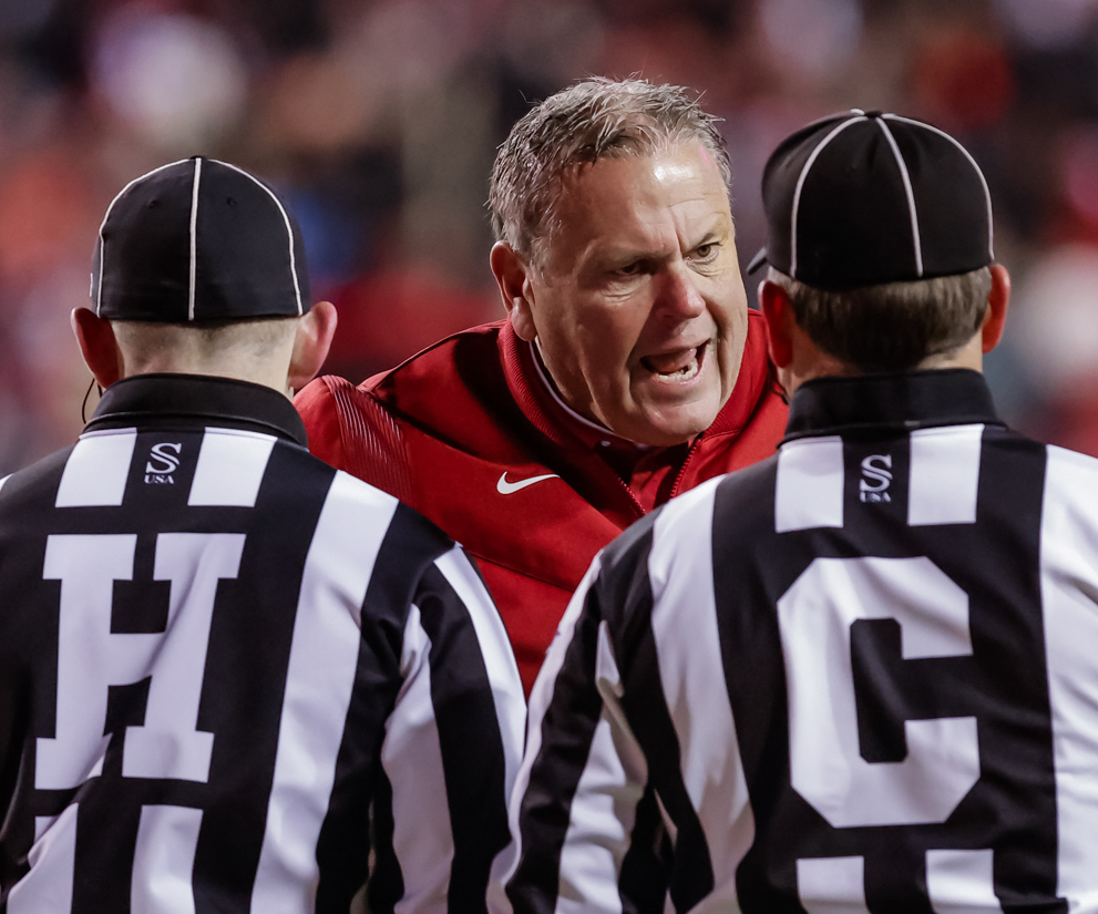
[[[521,292],[501,278],[515,330],[577,412],[645,444],[689,441],[728,400],[747,335],[716,161],[694,141],[599,160],[565,181],[558,217],[516,267]]]

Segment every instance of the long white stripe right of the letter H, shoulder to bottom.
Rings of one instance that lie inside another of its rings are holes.
[[[350,705],[361,609],[397,500],[336,473],[298,596],[254,914],[311,912],[317,838]]]

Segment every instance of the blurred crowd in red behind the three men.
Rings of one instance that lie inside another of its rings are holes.
[[[1098,0],[2,0],[0,473],[81,428],[68,316],[127,181],[202,153],[283,189],[339,309],[326,371],[359,381],[502,317],[495,148],[587,74],[689,85],[724,119],[741,265],[792,130],[862,107],[951,131],[1015,280],[1000,410],[1098,454]]]

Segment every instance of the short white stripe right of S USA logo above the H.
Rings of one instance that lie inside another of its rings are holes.
[[[274,446],[274,435],[206,429],[187,504],[255,507]]]

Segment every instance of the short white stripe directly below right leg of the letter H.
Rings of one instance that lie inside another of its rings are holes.
[[[130,887],[131,914],[194,914],[195,851],[202,810],[141,808]]]

